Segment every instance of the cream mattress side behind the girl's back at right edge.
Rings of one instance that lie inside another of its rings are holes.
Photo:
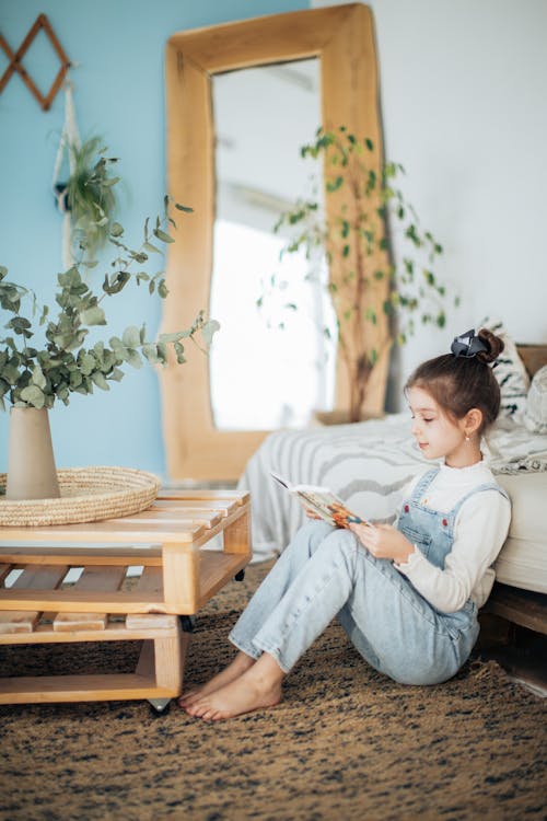
[[[512,505],[505,544],[493,565],[503,585],[547,593],[547,472],[497,475]]]

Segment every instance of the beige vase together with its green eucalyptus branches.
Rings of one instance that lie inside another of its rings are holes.
[[[104,182],[104,178],[103,178]],[[108,186],[107,186],[108,187]],[[45,305],[38,310],[35,294],[8,280],[0,267],[0,307],[10,315],[0,338],[0,406],[11,406],[7,497],[10,499],[55,498],[59,496],[55,459],[49,433],[48,409],[58,401],[69,404],[72,393],[108,391],[124,377],[127,366],[140,368],[144,361],[164,365],[170,356],[185,362],[185,344],[201,339],[207,347],[218,327],[200,311],[191,325],[155,340],[147,336],[144,325],[130,325],[119,335],[90,342],[90,331],[107,327],[106,303],[133,282],[161,299],[167,296],[164,271],[148,273],[150,257],[160,253],[159,243],[171,243],[170,226],[175,228],[172,207],[191,208],[164,199],[162,215],[144,223],[142,243],[131,248],[124,241],[124,228],[109,222],[108,240],[117,248],[112,273],[98,286],[92,286],[83,271],[95,266],[88,258],[94,246],[94,226],[82,230],[80,257],[57,277],[57,313]],[[96,213],[95,222],[103,217]],[[91,240],[90,240],[91,232]],[[30,310],[24,310],[27,304]],[[40,331],[42,329],[42,331]],[[45,337],[35,342],[37,332]]]

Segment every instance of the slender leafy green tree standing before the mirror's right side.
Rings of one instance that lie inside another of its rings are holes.
[[[276,231],[289,235],[283,253],[302,253],[307,279],[326,288],[335,309],[339,381],[347,406],[337,420],[358,421],[383,407],[383,391],[369,389],[376,369],[386,368],[389,349],[415,332],[416,320],[445,324],[445,287],[433,266],[442,246],[420,228],[416,211],[396,181],[404,167],[383,162],[373,142],[344,126],[319,128],[301,148],[302,158],[322,161],[325,198],[315,192],[283,212]],[[391,253],[391,232],[407,246],[400,259]],[[326,265],[325,265],[326,264]],[[328,277],[322,270],[328,267]],[[282,269],[269,280],[259,305],[283,289],[287,310],[298,310]],[[457,298],[455,298],[457,304]],[[324,333],[333,336],[330,328]]]

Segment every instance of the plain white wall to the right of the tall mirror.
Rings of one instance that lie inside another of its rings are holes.
[[[405,165],[405,190],[444,246],[438,271],[462,297],[447,329],[401,351],[396,377],[486,314],[519,342],[547,342],[546,0],[369,5],[386,157]]]

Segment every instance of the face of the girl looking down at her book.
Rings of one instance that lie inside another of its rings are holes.
[[[412,436],[426,459],[441,459],[451,467],[466,467],[480,459],[474,441],[466,441],[465,420],[446,415],[422,388],[409,388],[408,404],[412,414]]]

